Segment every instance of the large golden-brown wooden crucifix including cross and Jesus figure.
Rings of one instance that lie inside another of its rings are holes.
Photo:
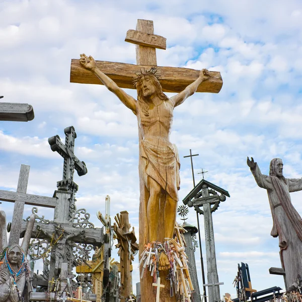
[[[137,44],[137,65],[95,61],[85,54],[80,60],[71,60],[70,82],[105,85],[137,117],[140,253],[145,244],[173,236],[180,184],[177,148],[169,141],[173,110],[195,92],[218,93],[222,87],[220,72],[157,66],[156,48],[164,48],[159,47],[164,39],[154,35],[153,21],[138,20],[136,31],[126,37]],[[137,100],[121,88],[136,88]],[[178,94],[168,98],[164,92]],[[164,267],[168,258],[161,261],[159,266]],[[170,297],[167,273],[160,272],[167,284],[162,300],[176,301],[175,296]],[[141,299],[155,300],[150,276],[141,280]]]

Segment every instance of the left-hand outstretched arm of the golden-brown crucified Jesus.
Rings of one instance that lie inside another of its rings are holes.
[[[81,64],[85,68],[93,71],[100,81],[106,86],[106,88],[113,92],[126,107],[131,109],[133,113],[136,114],[136,100],[126,94],[123,89],[119,88],[114,81],[107,77],[107,75],[97,67],[96,61],[92,56],[88,57],[85,53],[81,54],[80,56]]]

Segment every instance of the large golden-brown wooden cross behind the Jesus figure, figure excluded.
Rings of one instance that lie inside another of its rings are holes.
[[[97,67],[112,79],[120,88],[134,89],[133,78],[142,69],[150,69],[157,66],[156,48],[165,49],[165,38],[154,34],[153,21],[137,20],[136,30],[131,30],[127,33],[126,41],[136,44],[136,64],[125,64],[117,62],[96,61]],[[160,67],[157,66],[158,72],[161,75],[161,86],[164,92],[181,92],[188,85],[198,79],[200,70],[180,67]],[[196,92],[211,92],[218,93],[222,87],[222,79],[220,72],[211,71],[211,77],[202,82]],[[71,60],[70,82],[84,84],[99,84],[102,83],[96,75],[84,68],[78,59]],[[143,203],[143,198],[147,194],[144,189],[143,180],[140,177],[140,204]],[[139,229],[147,230],[148,226],[144,219],[144,215],[139,216]],[[160,236],[160,235],[159,235]],[[142,252],[144,244],[147,242],[146,232],[140,232],[139,245]],[[161,273],[160,273],[161,274]],[[169,281],[163,280],[167,284],[163,290],[164,299],[174,301],[175,297],[170,298]],[[150,278],[143,278],[141,284],[141,299],[147,302],[152,296],[152,286],[150,286]]]

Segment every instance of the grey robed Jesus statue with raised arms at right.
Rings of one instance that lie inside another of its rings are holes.
[[[280,258],[285,270],[286,289],[296,288],[302,278],[302,219],[291,203],[290,192],[302,190],[302,179],[285,178],[283,162],[273,159],[269,175],[263,175],[254,159],[247,164],[260,188],[267,190],[273,217],[271,236],[279,237]]]

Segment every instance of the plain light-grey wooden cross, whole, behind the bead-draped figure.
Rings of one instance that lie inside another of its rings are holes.
[[[0,200],[15,203],[9,246],[13,244],[19,244],[20,233],[22,232],[22,225],[24,225],[23,231],[25,232],[26,230],[27,221],[23,221],[23,212],[25,204],[49,208],[55,208],[57,204],[56,198],[26,194],[29,169],[30,166],[21,165],[17,192],[0,190]]]

